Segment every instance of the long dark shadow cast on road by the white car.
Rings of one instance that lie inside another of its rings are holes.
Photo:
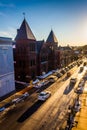
[[[17,122],[24,122],[27,118],[29,118],[44,102],[37,101],[30,108],[28,108],[23,115],[17,120]]]

